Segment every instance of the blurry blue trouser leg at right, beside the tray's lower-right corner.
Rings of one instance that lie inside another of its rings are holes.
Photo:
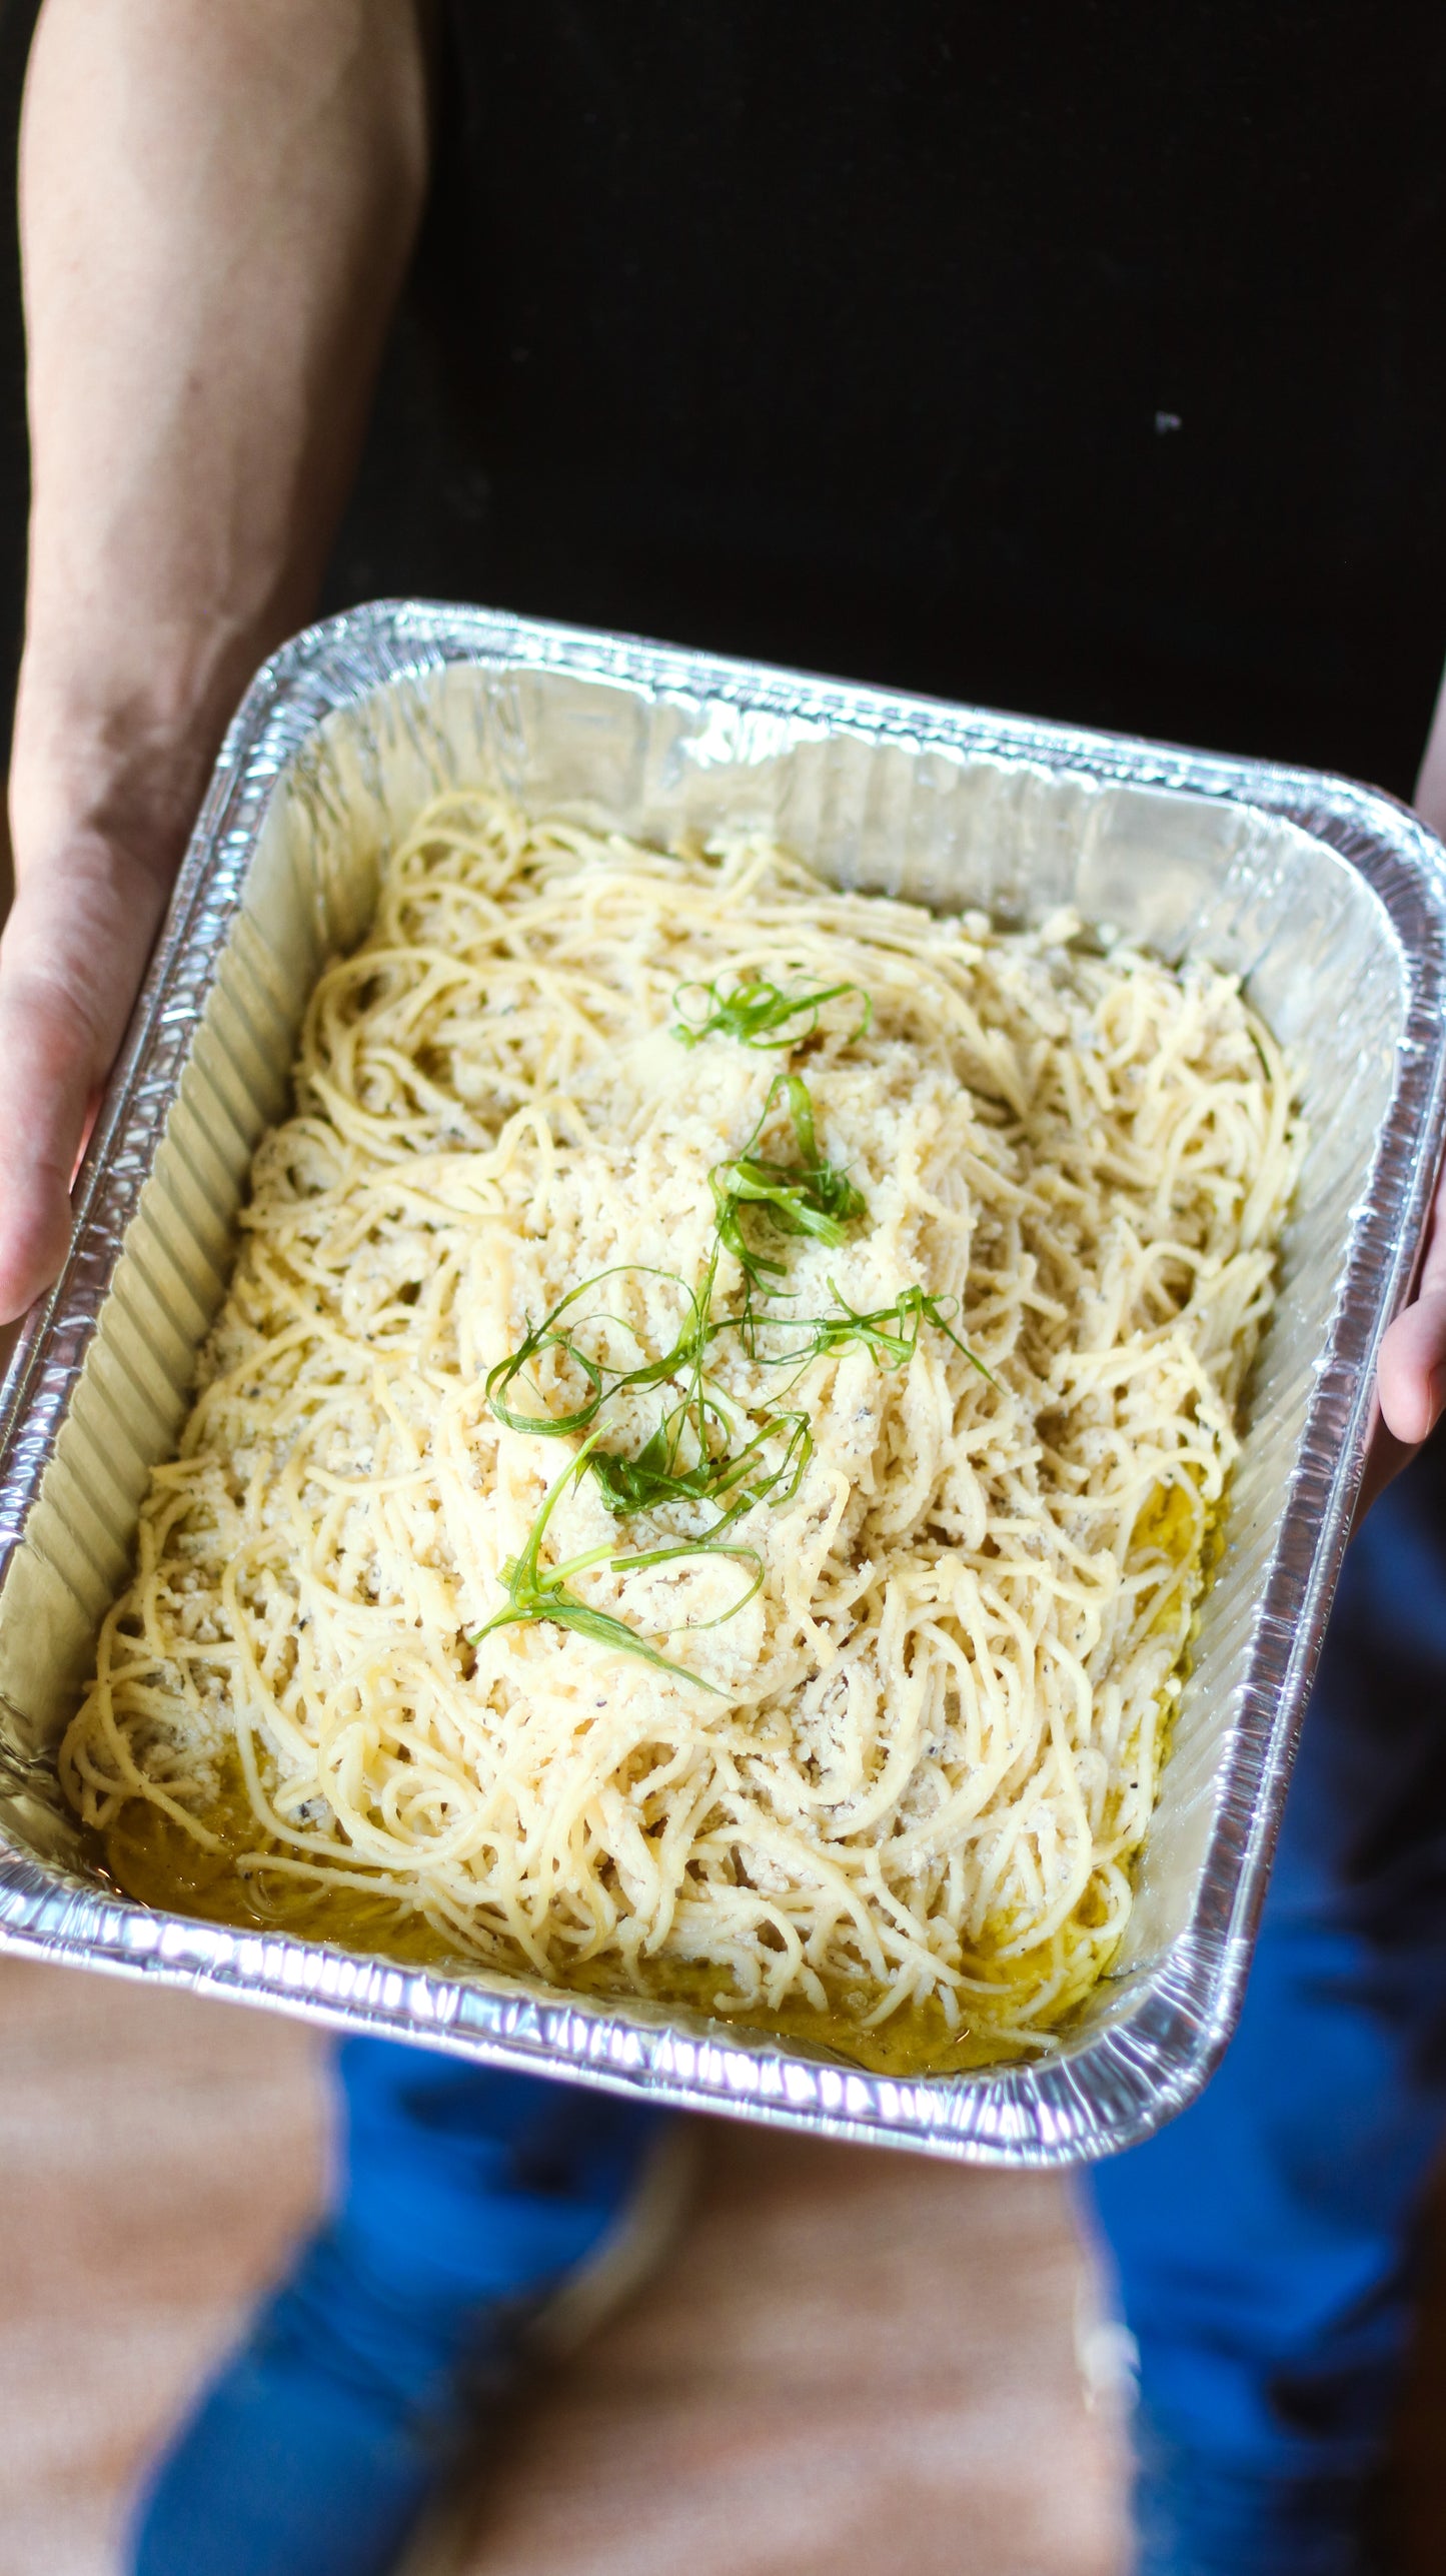
[[[1446,2130],[1446,1453],[1353,1543],[1240,2032],[1090,2177],[1142,2380],[1144,2568],[1366,2566]]]

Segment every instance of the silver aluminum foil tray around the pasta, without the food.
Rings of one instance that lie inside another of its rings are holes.
[[[175,1440],[260,1128],[379,845],[436,788],[668,840],[768,824],[845,884],[1021,920],[1075,902],[1250,981],[1304,1074],[1309,1154],[1227,1546],[1113,1973],[1034,2063],[894,2081],[827,2050],[526,1978],[402,1971],[157,1914],[88,1865],[54,1744]],[[1338,778],[536,626],[379,605],[250,688],[0,1399],[0,1942],[500,2066],[979,2164],[1144,2138],[1204,2084],[1245,1981],[1345,1546],[1379,1334],[1443,1121],[1446,858]]]

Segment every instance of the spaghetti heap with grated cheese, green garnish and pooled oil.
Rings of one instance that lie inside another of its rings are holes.
[[[1049,2045],[1297,1162],[1201,961],[438,799],[312,994],[75,1808],[224,1922],[897,2071]]]

